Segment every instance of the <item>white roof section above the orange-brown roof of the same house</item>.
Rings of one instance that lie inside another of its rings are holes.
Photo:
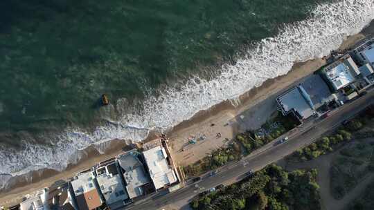
[[[94,178],[95,176],[92,171],[78,174],[75,180],[71,181],[75,196],[96,190]]]

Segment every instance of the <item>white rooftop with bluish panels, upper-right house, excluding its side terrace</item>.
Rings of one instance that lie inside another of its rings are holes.
[[[326,70],[326,75],[332,83],[332,86],[335,88],[335,90],[344,88],[351,82],[355,81],[355,78],[350,73],[348,66],[343,62],[341,62],[334,68]]]

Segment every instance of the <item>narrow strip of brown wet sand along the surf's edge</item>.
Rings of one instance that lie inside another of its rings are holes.
[[[359,39],[362,39],[365,35],[373,33],[373,25],[374,21],[371,21],[369,26],[366,26],[362,32],[357,35],[347,37],[339,49],[348,48],[351,44],[354,44]],[[240,95],[238,99],[240,103],[238,103],[238,105],[234,106],[230,101],[226,100],[209,108],[208,110],[199,111],[189,120],[184,120],[183,122],[177,124],[177,126],[170,128],[170,130],[166,133],[170,137],[170,140],[172,140],[173,137],[177,137],[183,133],[188,133],[189,130],[193,128],[204,130],[206,126],[210,126],[210,122],[215,122],[217,118],[222,117],[222,115],[226,115],[226,113],[231,113],[231,115],[236,117],[239,113],[242,113],[249,108],[253,108],[258,104],[261,104],[261,102],[264,102],[266,99],[271,98],[271,95],[276,95],[278,92],[283,91],[284,88],[294,84],[299,79],[305,77],[305,75],[309,75],[310,73],[314,72],[319,67],[323,66],[323,64],[323,59],[312,59],[302,63],[295,63],[287,74],[275,77],[273,79],[267,79],[261,84],[261,86],[253,88],[247,91],[247,93]],[[267,117],[263,117],[263,119],[260,121],[266,121],[266,118]],[[230,119],[227,118],[224,120]],[[216,129],[218,129],[218,127]],[[154,134],[150,133],[148,140],[152,138],[152,135],[154,136]],[[144,140],[143,142],[146,141],[147,140]],[[112,140],[108,144],[109,146],[107,146],[107,149],[105,149],[105,154],[100,154],[94,148],[94,146],[89,146],[88,149],[80,151],[82,155],[80,161],[76,164],[69,164],[64,171],[41,169],[39,171],[27,173],[26,175],[11,178],[9,181],[11,186],[0,191],[0,203],[7,204],[14,202],[15,199],[19,198],[19,196],[26,195],[27,193],[42,189],[43,187],[48,187],[57,180],[66,180],[67,178],[71,178],[73,175],[75,175],[75,173],[94,166],[94,164],[97,162],[112,158],[114,155],[117,155],[123,151],[125,141]],[[9,191],[9,189],[11,190]]]

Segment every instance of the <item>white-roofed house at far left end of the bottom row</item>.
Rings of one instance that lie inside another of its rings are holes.
[[[48,207],[48,189],[36,191],[33,194],[26,195],[23,202],[19,204],[20,210],[49,210]]]

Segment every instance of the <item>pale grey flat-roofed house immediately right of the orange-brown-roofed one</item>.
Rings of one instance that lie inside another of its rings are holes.
[[[101,193],[103,193],[108,205],[129,198],[118,173],[116,161],[110,162],[105,166],[99,166],[96,168],[96,173],[96,180],[98,180]]]

